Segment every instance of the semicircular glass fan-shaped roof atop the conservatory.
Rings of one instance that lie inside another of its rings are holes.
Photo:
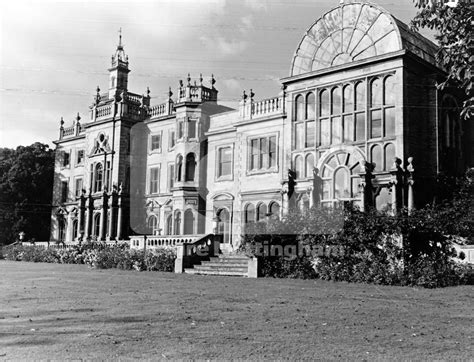
[[[434,62],[434,44],[380,7],[341,4],[317,20],[300,42],[290,76],[367,59],[404,48]]]

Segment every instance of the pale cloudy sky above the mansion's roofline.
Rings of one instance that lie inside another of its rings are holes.
[[[412,0],[378,0],[409,22]],[[278,94],[304,32],[339,0],[0,1],[0,147],[52,145],[59,121],[86,120],[122,28],[129,90],[152,104],[188,72],[213,73],[221,103]]]

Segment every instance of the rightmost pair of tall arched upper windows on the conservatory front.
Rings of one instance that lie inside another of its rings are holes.
[[[390,137],[395,134],[394,77],[376,78],[370,83],[370,136]]]

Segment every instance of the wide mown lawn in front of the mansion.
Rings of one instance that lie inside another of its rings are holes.
[[[473,357],[474,288],[0,261],[0,359]]]

